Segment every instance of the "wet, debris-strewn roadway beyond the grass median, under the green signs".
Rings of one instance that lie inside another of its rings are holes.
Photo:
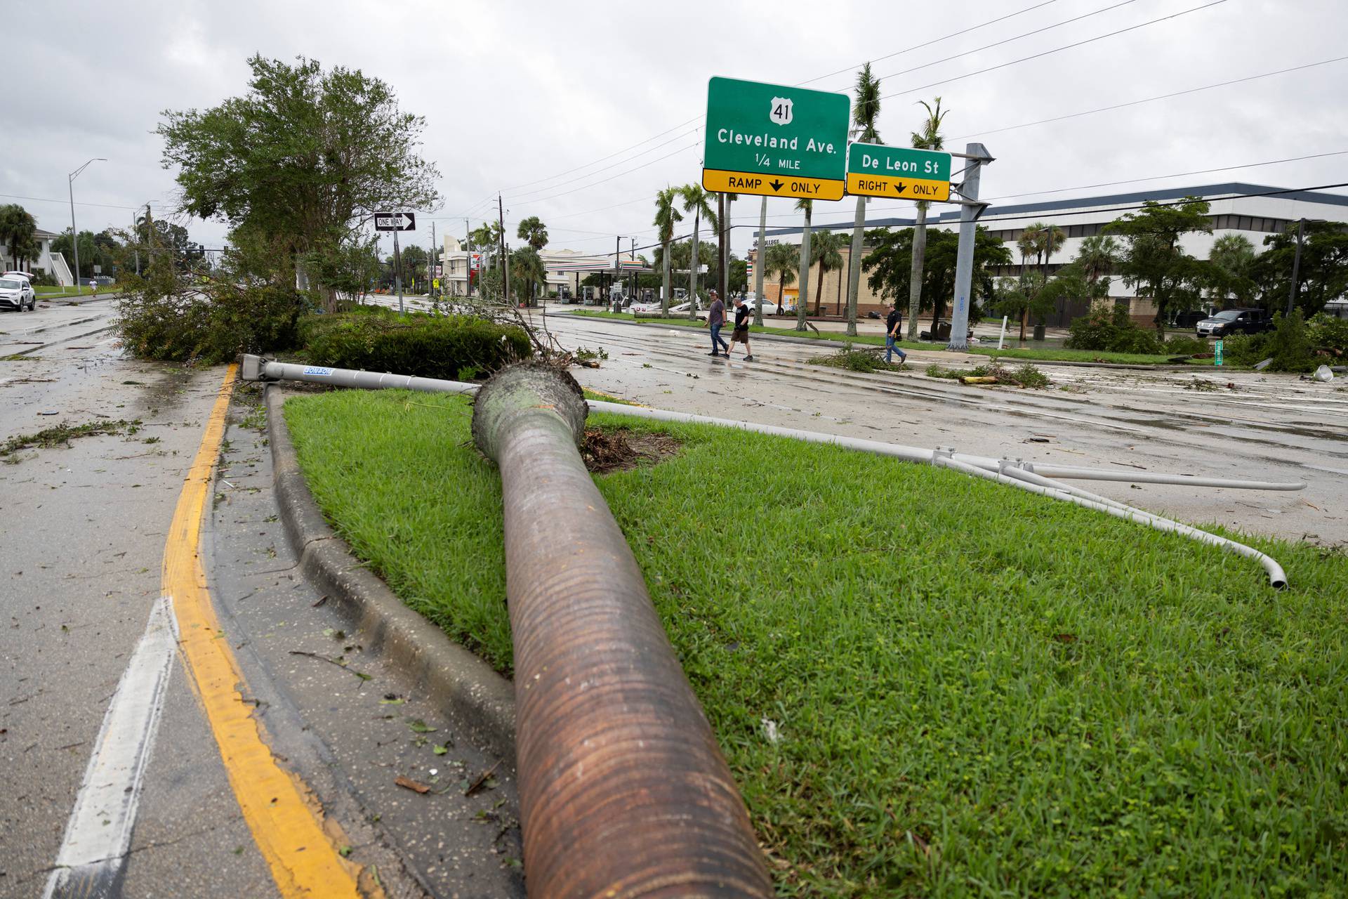
[[[987,359],[915,350],[909,372],[861,375],[807,364],[833,352],[828,348],[754,340],[756,361],[743,361],[736,348],[725,363],[708,356],[706,332],[569,311],[549,309],[546,318],[562,345],[608,353],[599,369],[576,369],[577,380],[624,399],[996,458],[1305,481],[1306,489],[1297,492],[1082,485],[1185,522],[1348,543],[1348,379],[1320,384],[1295,375],[1215,368],[1148,372],[1045,364],[1054,381],[1047,390],[965,387],[923,372],[931,363],[971,367]]]

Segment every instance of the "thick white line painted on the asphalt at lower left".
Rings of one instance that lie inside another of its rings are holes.
[[[177,628],[173,600],[160,597],[102,717],[43,899],[113,896],[120,890],[178,648]]]

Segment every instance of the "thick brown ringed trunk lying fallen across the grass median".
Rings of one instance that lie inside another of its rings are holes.
[[[530,896],[768,896],[712,728],[577,443],[570,375],[504,369],[473,439],[500,466]]]

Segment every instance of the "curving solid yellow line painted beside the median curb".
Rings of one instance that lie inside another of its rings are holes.
[[[329,838],[329,832],[341,838],[336,822],[325,824],[303,782],[276,763],[252,717],[253,706],[243,702],[247,685],[229,640],[220,639],[201,565],[201,519],[236,375],[237,367],[231,365],[178,497],[164,546],[163,593],[173,597],[183,662],[216,735],[229,784],[280,895],[356,899],[361,895],[360,868],[342,859]]]

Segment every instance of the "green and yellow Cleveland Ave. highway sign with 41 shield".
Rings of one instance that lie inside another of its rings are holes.
[[[716,193],[842,199],[847,94],[712,78],[702,186]]]

